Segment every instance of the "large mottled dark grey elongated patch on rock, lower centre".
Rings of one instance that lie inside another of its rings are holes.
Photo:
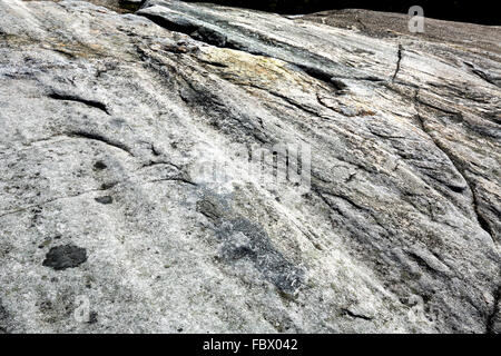
[[[283,293],[294,294],[304,278],[304,271],[277,251],[267,233],[245,218],[220,224],[218,237],[224,241],[222,259],[233,263],[249,259],[256,269]]]

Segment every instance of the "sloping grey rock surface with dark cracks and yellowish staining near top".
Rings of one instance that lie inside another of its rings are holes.
[[[500,28],[157,0],[0,19],[0,333],[501,332]],[[245,168],[286,142],[310,189]]]

